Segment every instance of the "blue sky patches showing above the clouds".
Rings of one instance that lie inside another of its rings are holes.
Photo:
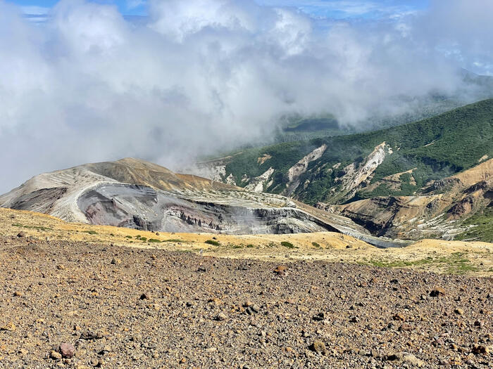
[[[25,7],[25,13],[41,13],[56,0],[13,0]],[[99,4],[114,4],[124,15],[146,15],[146,0],[94,0]],[[267,6],[292,6],[314,18],[382,18],[428,7],[429,0],[256,0]]]

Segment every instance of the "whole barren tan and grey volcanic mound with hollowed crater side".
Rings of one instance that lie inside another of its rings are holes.
[[[232,234],[335,231],[379,246],[351,219],[136,159],[84,164],[40,174],[0,196],[0,206],[65,221],[149,231]]]

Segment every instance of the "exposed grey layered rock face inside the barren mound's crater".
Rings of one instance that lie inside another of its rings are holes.
[[[178,198],[148,186],[105,184],[77,200],[91,224],[144,231],[301,233],[337,231],[299,209],[221,205]]]

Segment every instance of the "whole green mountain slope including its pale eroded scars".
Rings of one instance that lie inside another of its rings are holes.
[[[492,157],[489,99],[398,127],[247,148],[201,164],[223,173],[211,178],[234,180],[241,187],[269,170],[270,179],[254,188],[311,205],[341,205],[377,196],[420,195],[431,181]]]

